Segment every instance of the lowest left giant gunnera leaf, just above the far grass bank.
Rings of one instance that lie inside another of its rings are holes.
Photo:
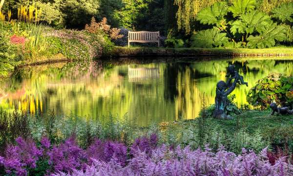
[[[217,47],[227,44],[228,40],[226,33],[220,33],[219,29],[202,30],[191,36],[191,47]]]

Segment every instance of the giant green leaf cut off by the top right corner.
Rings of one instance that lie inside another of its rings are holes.
[[[293,2],[283,3],[272,9],[272,17],[281,20],[282,22],[293,22]]]

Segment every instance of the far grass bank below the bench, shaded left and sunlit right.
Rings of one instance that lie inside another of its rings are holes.
[[[156,48],[156,47],[120,47],[110,51],[112,57],[144,56],[292,56],[293,47],[276,46],[264,49],[249,48]]]

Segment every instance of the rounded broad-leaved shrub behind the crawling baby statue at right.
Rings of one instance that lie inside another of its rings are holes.
[[[292,105],[293,102],[293,77],[281,73],[272,73],[260,79],[250,89],[246,97],[251,104],[267,108],[272,101],[282,106]]]

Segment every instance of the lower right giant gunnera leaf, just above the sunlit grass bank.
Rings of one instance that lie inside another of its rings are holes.
[[[284,26],[272,23],[265,27],[265,31],[258,36],[251,35],[247,40],[247,46],[250,48],[265,48],[275,45],[275,41],[284,41],[287,39],[286,28]]]

